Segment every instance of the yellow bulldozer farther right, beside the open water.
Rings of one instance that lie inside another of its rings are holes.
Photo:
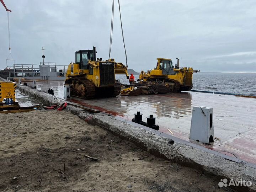
[[[141,71],[138,81],[146,84],[161,84],[170,87],[170,92],[190,91],[193,87],[193,72],[200,72],[189,67],[173,66],[171,59],[157,58],[156,68]]]

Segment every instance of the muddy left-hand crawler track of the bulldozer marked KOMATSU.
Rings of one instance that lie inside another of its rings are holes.
[[[81,95],[81,90],[75,89],[73,82],[75,84],[83,84],[85,87],[85,91]],[[95,85],[88,79],[86,78],[70,78],[65,81],[65,84],[69,84],[70,87],[70,94],[71,96],[79,97],[79,98],[84,98],[84,99],[90,99],[95,97]],[[78,94],[79,93],[79,94]]]

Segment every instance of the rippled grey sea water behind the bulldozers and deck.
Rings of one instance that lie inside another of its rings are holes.
[[[125,75],[116,75],[116,79],[129,84]],[[256,95],[256,73],[194,73],[193,90]]]

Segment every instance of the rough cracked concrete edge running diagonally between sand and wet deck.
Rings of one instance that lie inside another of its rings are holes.
[[[18,86],[18,89],[24,94],[34,97],[44,105],[53,105],[55,103],[60,105],[65,101],[59,98],[58,100],[54,100],[55,97],[53,95],[39,92],[30,87]],[[250,187],[233,187],[235,191],[256,191],[256,170],[254,168],[182,143],[175,142],[171,145],[168,143],[168,138],[151,133],[141,126],[130,124],[125,119],[120,120],[115,116],[108,116],[106,113],[87,113],[81,108],[74,106],[68,106],[67,109],[84,121],[110,130],[113,134],[118,136],[121,135],[121,138],[130,140],[155,156],[176,162],[183,166],[200,169],[208,175],[214,175],[219,179],[227,178],[228,180],[233,179],[234,181],[240,181],[242,178],[252,182]],[[230,188],[232,188],[232,186]]]

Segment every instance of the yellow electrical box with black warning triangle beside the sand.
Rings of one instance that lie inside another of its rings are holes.
[[[12,98],[12,100],[15,101],[16,87],[16,82],[0,81],[0,102],[2,102],[4,98]]]

